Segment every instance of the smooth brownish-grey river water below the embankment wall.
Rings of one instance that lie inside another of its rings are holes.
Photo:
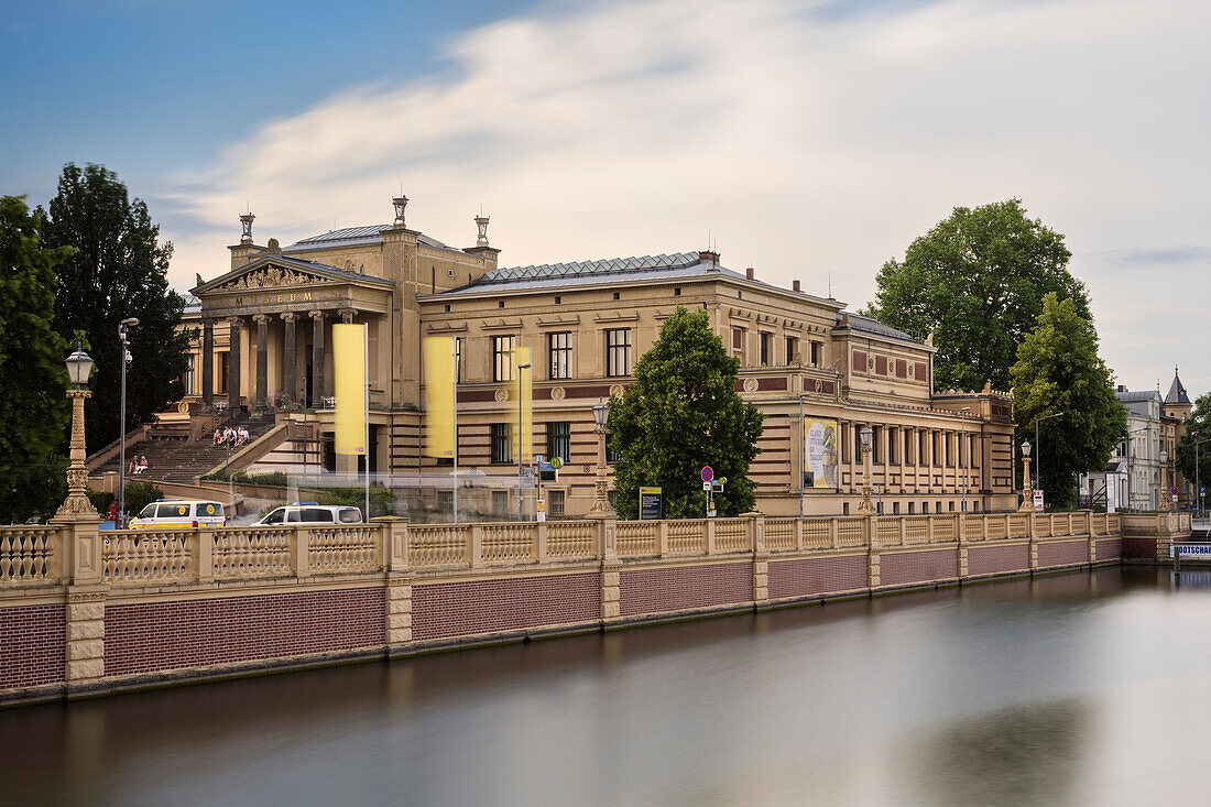
[[[13,805],[1211,802],[1211,580],[969,585],[0,711]]]

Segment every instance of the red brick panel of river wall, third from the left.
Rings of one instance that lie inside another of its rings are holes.
[[[412,588],[412,637],[597,622],[601,599],[598,572],[417,584]]]

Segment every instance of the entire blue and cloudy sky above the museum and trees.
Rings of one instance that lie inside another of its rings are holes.
[[[688,252],[851,309],[957,206],[1063,233],[1118,383],[1211,389],[1211,4],[5,0],[0,194],[117,172],[179,291],[385,224],[501,265]]]

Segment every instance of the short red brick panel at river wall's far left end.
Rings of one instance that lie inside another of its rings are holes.
[[[0,689],[64,680],[65,614],[63,605],[0,608]]]

